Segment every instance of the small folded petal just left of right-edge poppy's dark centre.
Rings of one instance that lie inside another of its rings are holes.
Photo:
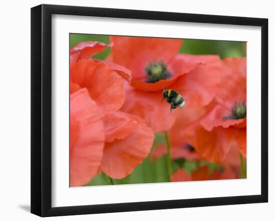
[[[214,127],[218,126],[228,128],[229,126],[236,125],[237,127],[237,125],[244,121],[244,119],[224,119],[224,117],[229,117],[231,115],[232,113],[228,108],[217,104],[201,119],[200,124],[205,130],[211,131]]]

